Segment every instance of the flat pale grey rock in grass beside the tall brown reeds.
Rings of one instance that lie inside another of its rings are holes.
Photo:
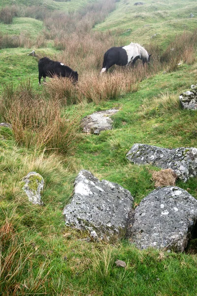
[[[112,129],[112,119],[110,116],[117,113],[119,110],[110,109],[106,111],[95,112],[84,117],[81,120],[81,126],[84,133],[99,134],[100,131]]]

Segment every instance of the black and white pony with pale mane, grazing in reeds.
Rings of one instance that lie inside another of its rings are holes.
[[[100,73],[107,72],[107,70],[113,66],[129,66],[134,65],[136,60],[140,59],[144,63],[150,61],[150,56],[146,49],[137,43],[130,43],[123,47],[111,47],[109,48],[103,58],[102,70]]]

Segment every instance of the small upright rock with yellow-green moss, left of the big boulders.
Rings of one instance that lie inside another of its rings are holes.
[[[33,204],[43,205],[41,192],[44,187],[42,176],[36,172],[30,172],[22,179],[23,190],[27,194],[29,201]]]

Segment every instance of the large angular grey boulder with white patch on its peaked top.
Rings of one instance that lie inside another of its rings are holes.
[[[66,225],[88,230],[94,238],[105,241],[124,237],[131,193],[118,184],[100,182],[86,170],[79,172],[74,185],[72,200],[64,209]]]

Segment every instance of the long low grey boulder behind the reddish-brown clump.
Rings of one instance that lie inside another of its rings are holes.
[[[197,148],[167,149],[134,144],[126,157],[136,164],[151,164],[163,169],[170,168],[184,182],[197,175]]]

